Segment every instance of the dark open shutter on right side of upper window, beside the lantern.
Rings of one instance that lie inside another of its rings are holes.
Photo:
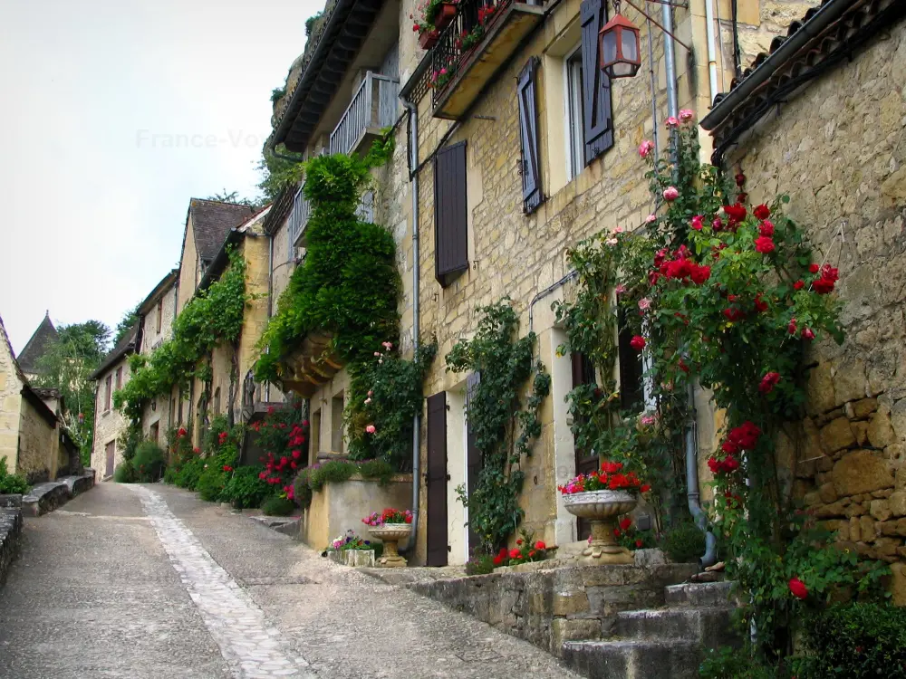
[[[585,165],[588,165],[613,146],[611,79],[598,65],[598,31],[607,22],[607,5],[603,0],[584,0],[579,15],[582,21]]]

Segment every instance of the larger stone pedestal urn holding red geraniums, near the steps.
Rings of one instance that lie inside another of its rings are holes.
[[[586,565],[631,564],[632,553],[614,539],[617,517],[631,512],[639,498],[626,491],[587,491],[564,495],[566,511],[592,521],[592,539],[582,552]]]

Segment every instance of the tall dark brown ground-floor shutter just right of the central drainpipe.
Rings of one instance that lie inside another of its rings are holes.
[[[428,565],[447,565],[447,392],[428,397]]]

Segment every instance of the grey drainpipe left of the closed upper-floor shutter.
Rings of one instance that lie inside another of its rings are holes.
[[[412,350],[419,351],[419,108],[410,100],[402,100],[409,111],[409,186],[412,194]],[[407,553],[415,552],[419,536],[419,496],[421,493],[421,414],[412,422],[412,537]]]

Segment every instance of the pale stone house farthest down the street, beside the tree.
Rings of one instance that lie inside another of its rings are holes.
[[[135,353],[136,333],[135,328],[127,332],[89,376],[95,383],[92,469],[99,479],[110,478],[122,462],[120,436],[129,422],[113,407],[113,394],[129,381],[129,357]]]

